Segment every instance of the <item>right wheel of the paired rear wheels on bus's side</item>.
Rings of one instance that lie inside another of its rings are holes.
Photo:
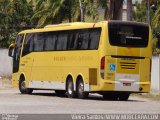
[[[80,78],[77,83],[77,94],[78,98],[85,99],[88,97],[89,93],[84,91],[84,83],[83,80]]]

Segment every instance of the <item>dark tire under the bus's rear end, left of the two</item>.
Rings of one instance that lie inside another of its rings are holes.
[[[118,100],[118,95],[114,92],[105,92],[103,93],[103,99],[104,100],[113,100],[113,101],[116,101]]]

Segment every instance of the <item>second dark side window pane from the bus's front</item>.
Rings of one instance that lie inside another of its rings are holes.
[[[34,36],[34,51],[35,52],[43,51],[44,39],[45,39],[44,33],[35,33],[35,36]]]

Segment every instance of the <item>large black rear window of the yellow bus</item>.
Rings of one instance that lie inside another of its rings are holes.
[[[110,21],[109,42],[112,46],[147,47],[149,26],[135,22]]]

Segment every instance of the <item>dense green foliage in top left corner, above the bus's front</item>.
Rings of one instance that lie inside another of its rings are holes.
[[[33,6],[27,0],[0,1],[0,47],[8,47],[15,41],[16,34],[27,28],[33,28],[30,21]]]

